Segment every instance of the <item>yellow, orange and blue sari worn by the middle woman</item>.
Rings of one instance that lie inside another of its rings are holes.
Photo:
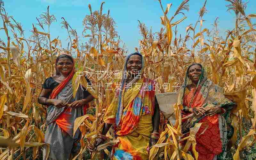
[[[133,54],[126,57],[123,73],[127,71],[126,63]],[[123,75],[119,81],[120,90],[116,90],[104,116],[104,122],[113,124],[115,136],[120,140],[112,148],[113,160],[148,159],[147,148],[153,132],[152,116],[155,108],[153,87],[156,82],[142,76],[145,62],[143,57],[141,77],[135,77],[129,87]]]

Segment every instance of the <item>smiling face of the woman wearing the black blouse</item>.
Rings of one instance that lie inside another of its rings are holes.
[[[73,69],[72,60],[69,58],[60,58],[57,62],[57,68],[63,76],[68,76]]]

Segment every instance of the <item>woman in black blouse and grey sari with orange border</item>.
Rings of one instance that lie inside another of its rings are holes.
[[[38,97],[38,103],[48,106],[44,141],[50,144],[49,159],[66,160],[71,153],[77,152],[80,131],[77,130],[73,137],[74,122],[77,117],[86,114],[87,103],[93,99],[81,87],[78,87],[76,96],[73,97],[74,68],[75,62],[70,55],[58,56],[55,63],[56,75],[45,80]],[[44,159],[45,154],[44,148]]]

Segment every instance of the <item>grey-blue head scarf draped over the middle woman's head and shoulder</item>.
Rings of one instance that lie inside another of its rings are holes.
[[[124,69],[123,69],[123,72],[122,72],[122,80],[121,80],[121,88],[120,88],[120,92],[119,92],[119,95],[118,95],[118,109],[117,109],[117,113],[116,113],[116,125],[118,126],[118,124],[120,123],[121,121],[121,118],[122,118],[122,114],[123,114],[123,96],[124,96],[124,85],[127,81],[127,77],[125,78],[125,76],[127,75],[127,62],[129,60],[129,58],[132,56],[132,55],[140,55],[141,56],[141,69],[139,71],[139,74],[140,74],[140,77],[139,76],[136,76],[132,81],[131,81],[131,84],[134,84],[135,82],[138,81],[138,79],[140,79],[142,77],[142,74],[143,74],[143,70],[144,70],[144,67],[145,67],[145,63],[146,63],[146,60],[145,60],[145,57],[140,54],[139,52],[134,52],[134,53],[131,53],[129,54],[126,59],[125,59],[125,62],[124,62]],[[142,103],[140,104],[142,105]]]

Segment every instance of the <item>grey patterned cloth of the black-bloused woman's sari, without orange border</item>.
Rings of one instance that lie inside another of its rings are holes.
[[[84,98],[84,92],[81,87],[78,87],[75,98],[73,97],[72,79],[66,84],[66,86],[60,91],[56,99],[63,100],[66,103],[72,103],[75,100],[81,100]],[[63,131],[57,124],[56,119],[62,113],[68,114],[67,132]],[[81,132],[76,131],[73,137],[73,128],[75,119],[84,115],[83,107],[78,108],[57,108],[51,105],[47,108],[46,117],[46,133],[45,143],[50,144],[49,159],[67,160],[71,153],[76,153],[79,150],[79,144],[74,147],[80,139]],[[46,148],[43,150],[43,158],[46,159]]]

